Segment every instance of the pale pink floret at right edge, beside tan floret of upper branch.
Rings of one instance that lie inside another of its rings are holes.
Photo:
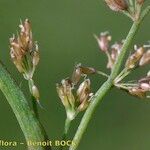
[[[150,63],[150,49],[147,50],[140,59],[139,66],[144,66]]]

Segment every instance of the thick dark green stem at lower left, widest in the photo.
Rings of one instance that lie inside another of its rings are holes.
[[[10,104],[18,123],[24,133],[26,142],[44,141],[45,133],[40,122],[30,109],[27,100],[10,74],[0,64],[0,89]],[[28,145],[28,150],[50,150],[50,147]]]

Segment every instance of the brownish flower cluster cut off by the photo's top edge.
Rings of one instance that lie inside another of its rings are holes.
[[[139,19],[144,0],[105,0],[113,11],[124,12],[132,20]]]

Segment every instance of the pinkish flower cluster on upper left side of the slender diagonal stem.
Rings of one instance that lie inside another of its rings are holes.
[[[98,42],[100,50],[104,52],[108,58],[107,68],[112,69],[118,55],[121,52],[123,41],[110,45],[111,36],[108,32],[102,32],[99,36],[95,35],[95,38]]]

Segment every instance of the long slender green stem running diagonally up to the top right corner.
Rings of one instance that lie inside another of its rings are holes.
[[[110,77],[101,86],[101,88],[96,92],[95,96],[93,97],[93,100],[92,100],[91,104],[89,105],[88,109],[86,110],[86,112],[85,112],[85,114],[81,120],[81,123],[77,129],[77,132],[73,138],[73,142],[75,144],[71,145],[69,150],[76,150],[77,149],[77,147],[81,141],[81,138],[82,138],[87,126],[88,126],[89,121],[92,118],[92,115],[93,115],[96,107],[98,106],[98,104],[100,102],[102,102],[103,97],[109,92],[109,90],[113,86],[114,79],[117,77],[117,75],[120,71],[121,65],[123,63],[123,59],[126,55],[126,52],[128,51],[128,48],[134,39],[134,36],[135,36],[135,34],[139,28],[139,25],[141,24],[142,20],[146,16],[146,14],[148,14],[149,10],[150,10],[150,8],[147,7],[146,10],[143,12],[141,18],[133,23],[133,25],[132,25],[132,27],[131,27],[131,29],[130,29],[127,37],[126,37],[126,40],[123,44],[121,53],[118,56],[117,61],[116,61],[115,65],[112,69],[112,73],[111,73]]]

